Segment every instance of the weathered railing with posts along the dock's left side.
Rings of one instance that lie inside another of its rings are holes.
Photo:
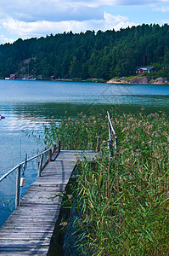
[[[40,161],[38,162],[38,172],[37,172],[37,177],[40,177],[41,172],[44,169],[44,167],[48,165],[49,161],[53,160],[54,153],[55,153],[55,158],[56,158],[57,155],[59,154],[59,151],[60,151],[60,141],[58,142],[58,145],[54,144],[52,148],[48,148],[47,150],[44,150],[42,153],[32,156],[30,159],[27,159],[27,156],[25,155],[25,161],[21,162],[17,166],[14,166],[14,168],[12,168],[10,171],[6,172],[5,174],[3,174],[2,177],[0,177],[0,183],[1,183],[4,178],[8,177],[12,172],[17,170],[17,173],[16,173],[16,191],[15,191],[15,208],[20,205],[20,186],[21,186],[20,185],[20,180],[21,180],[21,175],[20,174],[21,174],[21,167],[23,169],[25,169],[28,162],[40,157]],[[46,153],[48,153],[48,160],[43,165],[44,154],[46,154]]]

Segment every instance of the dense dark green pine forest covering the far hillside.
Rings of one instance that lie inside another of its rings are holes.
[[[169,26],[132,26],[118,32],[87,31],[19,38],[0,45],[0,77],[11,73],[55,79],[112,79],[155,66],[169,76]]]

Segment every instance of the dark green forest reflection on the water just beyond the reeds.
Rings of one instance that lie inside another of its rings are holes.
[[[115,113],[123,113],[124,111],[129,113],[136,113],[144,108],[146,113],[155,111],[165,111],[168,112],[169,107],[169,96],[121,96],[113,98],[113,100],[106,99],[103,104],[97,102],[90,102],[88,104],[72,104],[72,103],[36,103],[29,105],[14,105],[14,113],[19,119],[24,119],[26,122],[35,121],[38,123],[45,123],[48,119],[54,116],[55,119],[59,119],[61,116],[65,115],[65,111],[71,117],[75,117],[77,113],[106,113],[107,110],[113,110]]]

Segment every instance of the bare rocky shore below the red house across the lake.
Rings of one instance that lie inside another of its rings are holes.
[[[144,78],[121,78],[121,79],[110,79],[108,84],[169,84],[169,81],[166,78],[157,78],[152,79],[152,77]]]

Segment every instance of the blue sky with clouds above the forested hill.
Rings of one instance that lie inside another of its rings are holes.
[[[169,22],[169,0],[0,0],[0,44]]]

